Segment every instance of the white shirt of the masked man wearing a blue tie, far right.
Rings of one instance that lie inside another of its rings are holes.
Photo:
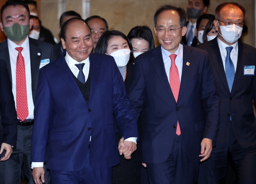
[[[220,55],[221,55],[221,59],[223,62],[225,72],[226,72],[225,61],[226,61],[226,57],[227,57],[226,47],[234,47],[230,53],[230,58],[234,64],[235,72],[236,72],[236,66],[237,66],[237,60],[238,60],[238,44],[237,44],[237,42],[234,43],[233,45],[227,45],[226,43],[221,41],[219,38],[217,38],[217,41],[218,41],[218,45],[220,48]]]

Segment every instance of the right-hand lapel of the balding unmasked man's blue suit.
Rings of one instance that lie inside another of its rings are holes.
[[[94,53],[90,54],[89,60],[90,60],[90,74],[91,74],[91,88],[90,88],[90,99],[89,99],[89,105],[90,105],[98,85],[101,67],[100,67],[99,61],[95,58]]]

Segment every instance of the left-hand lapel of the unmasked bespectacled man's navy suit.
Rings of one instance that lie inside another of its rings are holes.
[[[169,96],[175,101],[175,98],[172,94],[172,90],[170,88],[170,84],[168,82],[168,78],[166,76],[166,71],[164,68],[164,61],[161,51],[161,45],[159,45],[154,51],[152,51],[152,54],[154,54],[153,57],[150,58],[150,61],[156,70],[156,73],[158,77],[160,78],[160,81],[162,82],[165,90],[168,92]],[[176,102],[176,101],[175,101]]]

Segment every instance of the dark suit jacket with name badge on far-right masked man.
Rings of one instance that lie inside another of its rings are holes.
[[[256,49],[238,41],[238,61],[232,91],[228,82],[217,37],[197,46],[210,54],[215,80],[220,92],[220,128],[216,148],[219,149],[228,135],[230,116],[234,134],[244,148],[256,147],[256,121],[253,114],[252,99],[256,101],[256,77],[244,75],[244,65],[256,66]]]

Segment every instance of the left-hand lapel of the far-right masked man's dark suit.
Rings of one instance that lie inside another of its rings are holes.
[[[225,86],[226,91],[230,93],[228,88],[226,73],[225,73],[222,58],[220,55],[220,47],[218,45],[217,37],[209,43],[209,46],[210,47],[208,47],[208,53],[210,54],[214,67],[216,68],[216,71],[220,76],[220,79],[222,80],[222,83]]]

